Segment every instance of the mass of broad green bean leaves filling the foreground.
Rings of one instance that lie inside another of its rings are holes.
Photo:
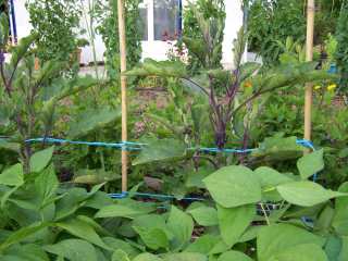
[[[300,159],[300,171],[322,162],[322,153],[310,156]],[[233,258],[251,261],[256,260],[253,248],[257,260],[286,261],[297,257],[310,261],[315,257],[325,261],[327,257],[346,257],[347,184],[337,192],[309,181],[287,179],[285,174],[270,167],[252,171],[245,166],[228,166],[212,173],[206,183],[214,199],[216,189],[210,183],[224,178],[228,184],[233,177],[235,182],[229,183],[233,188],[219,188],[225,195],[223,201],[233,200],[233,204],[195,202],[186,212],[172,206],[169,213],[159,213],[156,202],[110,199],[99,191],[104,184],[92,187],[89,192],[83,188],[59,187],[54,169],[47,160],[51,157],[52,149],[34,156],[35,159],[42,158],[47,166],[27,174],[25,179],[21,179],[21,164],[0,174],[0,257],[3,260],[225,261]],[[20,179],[9,179],[9,173]],[[224,176],[216,177],[219,173]],[[260,197],[252,203],[249,203],[252,191],[245,192],[246,184],[249,187],[252,184],[253,190],[259,190]],[[244,190],[239,191],[239,187]],[[281,198],[276,201],[283,203],[278,210],[260,214],[258,202],[264,208],[264,195],[272,189],[278,190]],[[231,194],[234,191],[239,191],[238,197]],[[336,198],[335,207],[331,198]],[[295,216],[301,217],[304,213],[313,219],[315,229],[296,220]],[[196,226],[190,215],[200,225],[209,226],[194,243]],[[25,251],[14,251],[17,247]]]

